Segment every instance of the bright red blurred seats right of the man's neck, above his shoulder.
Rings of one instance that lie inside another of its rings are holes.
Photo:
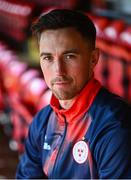
[[[111,92],[131,102],[131,53],[119,45],[97,40],[101,50],[95,76]]]

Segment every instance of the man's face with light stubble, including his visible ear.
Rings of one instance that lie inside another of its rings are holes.
[[[76,97],[98,60],[87,41],[74,28],[45,30],[40,38],[40,65],[48,87],[59,100]]]

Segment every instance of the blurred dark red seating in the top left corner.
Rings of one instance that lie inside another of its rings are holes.
[[[0,0],[0,32],[18,42],[25,40],[33,10],[33,3]]]

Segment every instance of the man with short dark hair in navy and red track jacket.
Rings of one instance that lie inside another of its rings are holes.
[[[32,29],[52,97],[30,126],[16,178],[131,178],[131,107],[93,77],[92,21],[56,9]]]

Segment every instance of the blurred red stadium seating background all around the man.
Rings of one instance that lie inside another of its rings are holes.
[[[101,50],[95,76],[131,103],[131,0],[0,0],[0,178],[14,178],[32,117],[50,100],[30,25],[49,8],[91,17]]]

